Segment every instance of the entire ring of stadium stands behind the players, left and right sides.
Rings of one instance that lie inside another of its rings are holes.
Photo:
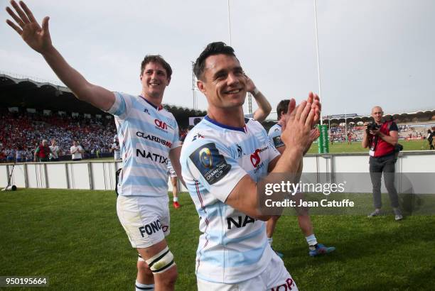
[[[189,117],[206,114],[180,106],[166,104],[164,107],[176,117],[180,136],[187,133]],[[0,74],[0,114],[0,163],[12,162],[17,154],[23,161],[33,161],[33,151],[41,140],[53,138],[62,152],[60,160],[70,158],[73,140],[85,148],[86,158],[111,155],[109,146],[116,134],[112,116],[78,101],[66,87]],[[386,114],[385,118],[397,122],[400,139],[426,138],[427,129],[435,127],[435,110]],[[323,119],[323,123],[331,124],[330,141],[333,142],[360,141],[362,124],[366,121],[371,121],[371,117]],[[269,130],[275,122],[269,119],[262,124]]]

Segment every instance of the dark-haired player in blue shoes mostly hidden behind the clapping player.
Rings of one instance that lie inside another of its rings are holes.
[[[276,106],[276,114],[278,122],[274,124],[269,129],[269,139],[271,143],[274,145],[276,150],[279,151],[279,153],[284,153],[284,150],[286,149],[286,145],[281,140],[281,133],[282,133],[282,126],[286,122],[285,117],[287,114],[287,109],[289,108],[290,100],[281,100]],[[313,141],[316,141],[316,139],[319,136],[318,129],[312,129],[310,132],[310,142],[306,145],[306,148],[304,150],[304,155],[308,150],[310,149],[311,143]],[[302,163],[302,161],[301,161]],[[299,179],[297,179],[299,180]],[[299,193],[299,196],[301,193]],[[333,246],[327,247],[324,246],[322,243],[317,242],[317,238],[314,235],[313,231],[313,224],[311,223],[311,218],[308,214],[307,209],[299,209],[298,210],[298,222],[299,227],[302,231],[302,233],[305,236],[306,242],[308,243],[308,255],[310,256],[318,256],[323,253],[331,253],[332,251],[335,251],[335,248]],[[273,216],[271,219],[267,221],[267,239],[269,240],[269,243],[272,245],[273,241],[273,234],[276,226],[276,221],[278,221],[279,216]],[[277,253],[278,255],[281,255],[281,253]]]

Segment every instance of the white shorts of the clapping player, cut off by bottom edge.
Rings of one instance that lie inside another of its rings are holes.
[[[225,284],[225,283],[215,283],[209,282],[205,280],[201,280],[200,278],[196,279],[198,282],[198,291],[238,291],[238,290],[249,290],[249,291],[290,291],[290,290],[298,290],[296,283],[294,282],[291,275],[286,270],[284,266],[284,262],[276,256],[276,253],[273,254],[272,260],[270,260],[267,268],[252,279],[234,283],[234,284]]]

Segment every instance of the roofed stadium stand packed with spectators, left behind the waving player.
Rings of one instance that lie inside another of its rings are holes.
[[[181,136],[186,135],[190,116],[206,114],[164,107],[176,117]],[[73,140],[85,149],[85,158],[112,156],[109,147],[115,134],[111,115],[78,101],[68,88],[0,74],[0,163],[13,162],[17,154],[22,161],[33,161],[41,141],[53,138],[61,150],[60,160],[70,159]]]

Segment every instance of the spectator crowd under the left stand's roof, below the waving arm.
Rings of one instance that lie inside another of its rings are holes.
[[[1,109],[0,161],[33,161],[43,140],[57,142],[60,155],[71,155],[73,141],[87,154],[109,153],[116,128],[113,119],[82,116],[50,116],[39,113],[9,112]]]

